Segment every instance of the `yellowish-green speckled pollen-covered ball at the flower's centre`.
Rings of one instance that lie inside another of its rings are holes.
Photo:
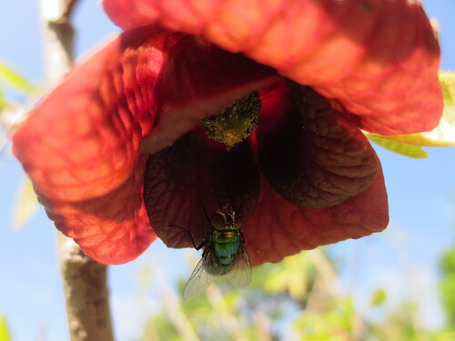
[[[208,137],[226,145],[227,150],[242,142],[258,125],[262,101],[254,92],[201,120]]]

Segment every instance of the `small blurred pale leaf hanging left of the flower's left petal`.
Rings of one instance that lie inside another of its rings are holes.
[[[20,189],[18,199],[13,211],[13,226],[15,230],[20,230],[30,219],[35,216],[38,209],[35,190],[28,177]]]

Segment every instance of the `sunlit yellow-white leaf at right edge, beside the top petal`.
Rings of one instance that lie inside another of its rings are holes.
[[[430,132],[409,135],[379,135],[366,133],[369,138],[380,137],[407,145],[455,145],[455,72],[440,71],[440,86],[444,96],[444,110],[440,124]]]

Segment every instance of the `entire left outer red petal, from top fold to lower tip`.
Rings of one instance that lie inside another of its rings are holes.
[[[179,37],[150,27],[117,37],[13,135],[14,153],[50,218],[100,262],[132,260],[156,237],[141,199],[138,147],[153,123],[163,55]]]

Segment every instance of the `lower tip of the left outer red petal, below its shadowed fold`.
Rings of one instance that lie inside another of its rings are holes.
[[[74,238],[87,256],[105,264],[131,261],[157,237],[143,199],[146,159],[141,156],[136,171],[105,196],[69,202],[48,200],[38,193],[40,202],[56,227]]]

